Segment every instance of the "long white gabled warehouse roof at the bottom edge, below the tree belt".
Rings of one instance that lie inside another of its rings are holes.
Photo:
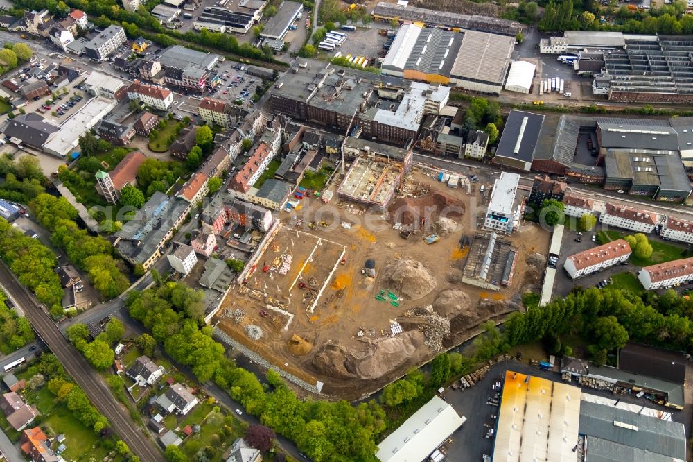
[[[421,462],[465,420],[434,396],[378,445],[376,456],[382,462]]]

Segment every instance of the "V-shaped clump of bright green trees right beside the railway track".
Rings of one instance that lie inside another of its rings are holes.
[[[75,345],[75,348],[87,358],[91,366],[99,370],[105,370],[113,366],[115,353],[111,347],[122,339],[123,335],[125,335],[125,327],[116,318],[111,318],[105,330],[91,342],[89,342],[87,325],[82,323],[73,324],[67,330],[67,339],[69,339],[70,343]]]

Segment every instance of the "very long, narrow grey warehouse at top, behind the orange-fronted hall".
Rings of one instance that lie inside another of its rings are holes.
[[[375,21],[390,22],[423,22],[428,27],[448,28],[453,30],[480,31],[515,37],[523,31],[519,22],[498,19],[481,15],[459,15],[448,11],[433,11],[394,3],[379,1],[371,12]]]

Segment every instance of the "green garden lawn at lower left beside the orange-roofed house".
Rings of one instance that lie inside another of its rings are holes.
[[[49,429],[49,433],[65,434],[67,450],[62,453],[64,459],[71,461],[100,461],[108,453],[103,440],[94,433],[94,430],[82,425],[66,406],[55,407],[53,413],[44,418],[42,428]]]

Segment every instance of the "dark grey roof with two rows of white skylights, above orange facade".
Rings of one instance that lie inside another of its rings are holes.
[[[462,42],[462,34],[424,28],[407,58],[405,69],[449,76]]]

